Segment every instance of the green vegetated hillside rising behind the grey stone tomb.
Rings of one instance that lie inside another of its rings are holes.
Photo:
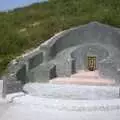
[[[0,12],[0,73],[15,56],[54,33],[90,21],[120,27],[120,0],[49,0]]]

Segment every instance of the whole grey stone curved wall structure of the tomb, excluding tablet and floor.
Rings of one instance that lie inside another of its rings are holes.
[[[8,74],[3,76],[3,96],[21,91],[27,82],[47,82],[57,76],[70,76],[78,69],[84,69],[84,58],[92,54],[98,58],[101,76],[114,76],[119,81],[119,39],[120,29],[98,22],[58,33],[33,51],[11,61]]]

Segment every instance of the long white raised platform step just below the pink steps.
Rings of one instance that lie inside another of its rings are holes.
[[[115,86],[28,83],[23,89],[33,96],[60,98],[62,100],[112,99],[119,97],[119,87]]]

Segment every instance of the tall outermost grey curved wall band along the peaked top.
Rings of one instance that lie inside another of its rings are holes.
[[[50,56],[54,57],[58,52],[68,47],[84,43],[101,43],[114,45],[120,49],[120,34],[117,29],[108,25],[92,22],[64,32],[64,35],[56,38],[50,48]]]

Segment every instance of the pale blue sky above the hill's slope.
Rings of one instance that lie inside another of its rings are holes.
[[[47,0],[0,0],[0,11],[8,11],[14,8],[30,5],[35,2]]]

